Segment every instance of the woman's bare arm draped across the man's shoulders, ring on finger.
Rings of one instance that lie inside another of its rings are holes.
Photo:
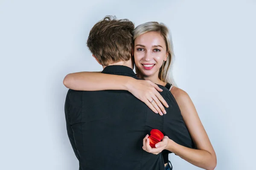
[[[78,72],[68,74],[63,84],[67,88],[80,91],[127,90],[160,115],[166,113],[163,105],[169,107],[158,93],[163,90],[148,80],[99,72]]]

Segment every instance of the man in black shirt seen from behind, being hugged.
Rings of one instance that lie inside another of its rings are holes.
[[[93,57],[104,68],[102,73],[138,79],[133,72],[132,31],[129,20],[105,17],[90,31],[87,46]],[[170,93],[163,88],[168,103]],[[169,95],[169,96],[168,96]],[[170,103],[168,103],[170,104]],[[142,149],[143,138],[152,128],[174,136],[173,108],[160,116],[128,91],[74,91],[69,90],[65,102],[65,116],[70,143],[79,160],[80,170],[163,170],[161,154],[154,155]],[[179,119],[182,119],[181,115]],[[186,130],[184,142],[192,145]],[[182,140],[182,139],[179,139]]]

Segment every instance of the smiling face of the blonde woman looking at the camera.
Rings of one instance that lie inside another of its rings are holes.
[[[134,40],[134,61],[144,77],[158,77],[167,57],[166,43],[160,33],[147,32]]]

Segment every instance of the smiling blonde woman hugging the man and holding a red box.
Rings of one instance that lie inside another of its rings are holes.
[[[161,89],[154,83],[169,86],[197,149],[183,147],[168,136],[164,136],[163,141],[156,144],[156,148],[151,148],[148,135],[143,139],[143,149],[154,154],[169,150],[195,166],[213,170],[216,166],[215,151],[192,100],[185,91],[167,83],[171,82],[168,79],[168,70],[174,56],[172,41],[168,37],[168,28],[157,22],[144,23],[134,29],[134,62],[137,76],[148,81],[96,72],[80,72],[68,74],[64,79],[64,85],[67,88],[85,91],[128,90],[160,115],[166,113],[163,105],[168,105],[157,92]],[[171,169],[167,163],[168,161],[165,161],[166,169]]]

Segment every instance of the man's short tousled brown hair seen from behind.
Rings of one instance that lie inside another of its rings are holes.
[[[116,20],[106,16],[90,30],[87,46],[103,65],[110,65],[131,58],[134,23],[128,19]]]

